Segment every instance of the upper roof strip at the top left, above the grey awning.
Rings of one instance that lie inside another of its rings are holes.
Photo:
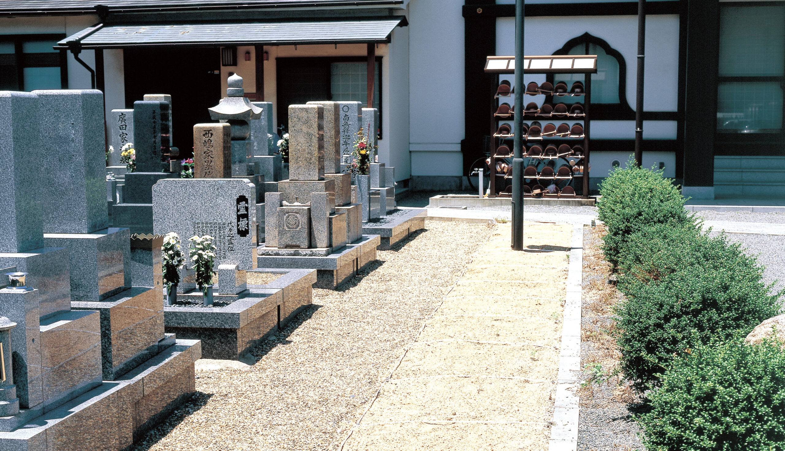
[[[105,5],[111,12],[173,8],[324,8],[400,4],[403,4],[403,0],[2,0],[0,14],[95,13],[96,5]]]

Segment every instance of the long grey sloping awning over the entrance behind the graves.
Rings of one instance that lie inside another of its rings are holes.
[[[57,42],[55,49],[71,45],[82,49],[119,49],[152,45],[357,44],[389,42],[403,16],[376,20],[276,22],[261,24],[106,25],[85,28]]]

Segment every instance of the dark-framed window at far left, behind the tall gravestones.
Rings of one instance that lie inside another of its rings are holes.
[[[0,35],[0,90],[68,89],[64,35]]]

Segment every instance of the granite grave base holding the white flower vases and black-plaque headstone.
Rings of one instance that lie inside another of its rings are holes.
[[[214,294],[214,307],[166,305],[166,332],[202,340],[204,358],[238,360],[311,304],[316,271],[257,268],[248,272],[283,276],[267,285],[248,285],[236,296]],[[178,294],[177,299],[188,300],[188,293]],[[201,302],[201,292],[194,293],[193,300],[197,299]]]

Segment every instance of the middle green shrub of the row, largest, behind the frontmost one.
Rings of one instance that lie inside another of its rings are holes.
[[[779,313],[783,293],[769,294],[763,267],[725,235],[661,224],[630,238],[619,290],[616,344],[620,367],[638,391],[658,387],[674,356],[749,332]],[[631,262],[635,262],[635,264]]]

